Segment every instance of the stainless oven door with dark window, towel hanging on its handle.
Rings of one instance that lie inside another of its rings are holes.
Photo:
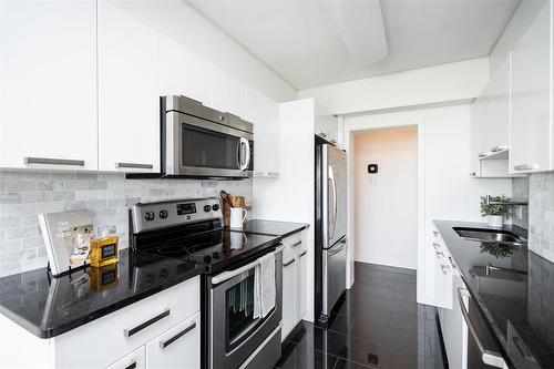
[[[281,321],[283,253],[275,254],[275,308],[254,319],[254,268],[212,286],[209,368],[238,368]],[[240,268],[244,270],[244,267]],[[223,275],[223,274],[222,274]],[[219,275],[220,276],[220,275]],[[212,279],[217,280],[217,277]]]

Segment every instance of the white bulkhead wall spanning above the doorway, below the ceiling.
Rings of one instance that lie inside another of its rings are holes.
[[[302,90],[298,96],[315,98],[331,114],[351,114],[468,101],[488,82],[483,58]]]

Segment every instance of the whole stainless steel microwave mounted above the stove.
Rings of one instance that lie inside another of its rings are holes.
[[[250,177],[253,124],[189,98],[164,96],[162,167],[165,176]]]

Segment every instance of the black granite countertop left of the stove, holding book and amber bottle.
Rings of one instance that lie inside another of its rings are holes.
[[[45,268],[0,278],[0,312],[40,338],[78,328],[197,276],[204,267],[123,249],[116,265],[51,278]]]

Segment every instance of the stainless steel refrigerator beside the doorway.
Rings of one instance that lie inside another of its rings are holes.
[[[347,165],[345,151],[316,144],[316,317],[327,321],[346,290]]]

